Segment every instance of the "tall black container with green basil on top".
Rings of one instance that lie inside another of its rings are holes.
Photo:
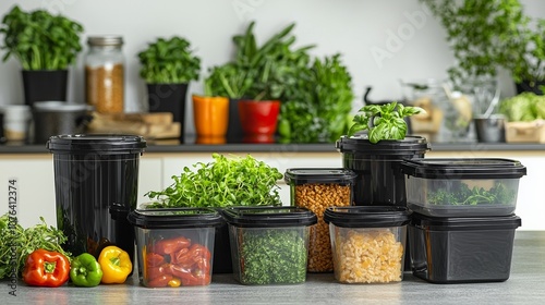
[[[425,137],[407,135],[404,118],[423,112],[419,107],[390,102],[367,105],[354,115],[347,135],[337,141],[346,169],[353,170],[354,203],[361,206],[405,206],[404,159],[423,158]]]

